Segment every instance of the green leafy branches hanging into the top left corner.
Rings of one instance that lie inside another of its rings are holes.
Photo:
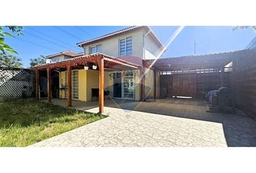
[[[13,33],[16,33],[17,35],[23,35],[21,30],[23,27],[20,26],[7,26],[9,30],[11,30]],[[6,36],[14,37],[10,32],[4,31],[3,27],[0,26],[0,50],[2,53],[17,53],[13,48],[11,48],[9,45],[4,43],[4,38]]]

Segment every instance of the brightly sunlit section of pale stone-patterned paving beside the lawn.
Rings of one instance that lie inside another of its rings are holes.
[[[33,146],[226,146],[221,123],[105,109],[109,117]]]

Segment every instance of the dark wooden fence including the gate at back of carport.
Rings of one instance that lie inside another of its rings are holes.
[[[221,87],[221,72],[167,74],[160,78],[161,97],[190,96],[202,98],[204,92]],[[231,87],[231,72],[223,76],[223,86]]]

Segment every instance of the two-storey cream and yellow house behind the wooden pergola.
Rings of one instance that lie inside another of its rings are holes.
[[[77,43],[84,49],[84,56],[103,53],[106,56],[119,58],[129,63],[135,63],[148,71],[143,84],[143,98],[154,97],[154,73],[145,60],[161,57],[163,45],[149,27],[127,27],[123,30],[111,32],[93,40]],[[82,56],[80,53],[64,51],[47,56],[52,62]],[[158,74],[160,75],[160,73]],[[98,89],[99,71],[89,68],[72,70],[72,99],[81,101],[92,100],[92,89]],[[119,99],[141,99],[140,71],[120,69],[104,72],[104,87],[110,97]],[[159,79],[159,78],[158,78]],[[159,81],[157,81],[159,86]],[[59,73],[59,97],[67,98],[67,71]],[[157,87],[159,88],[159,87]],[[157,92],[159,96],[159,91]]]

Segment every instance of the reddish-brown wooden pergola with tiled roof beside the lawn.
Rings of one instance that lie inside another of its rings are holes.
[[[142,68],[134,63],[106,56],[102,53],[90,54],[88,56],[80,56],[77,58],[70,58],[58,63],[46,63],[40,66],[33,66],[35,71],[35,97],[39,99],[39,71],[47,71],[47,99],[51,102],[51,70],[59,69],[60,71],[67,70],[67,106],[72,106],[72,70],[82,69],[84,66],[91,68],[93,65],[98,65],[99,71],[99,112],[103,112],[104,107],[104,71],[121,71],[140,69],[140,76],[142,76]],[[141,82],[140,82],[141,84]],[[142,86],[140,86],[142,88]]]

